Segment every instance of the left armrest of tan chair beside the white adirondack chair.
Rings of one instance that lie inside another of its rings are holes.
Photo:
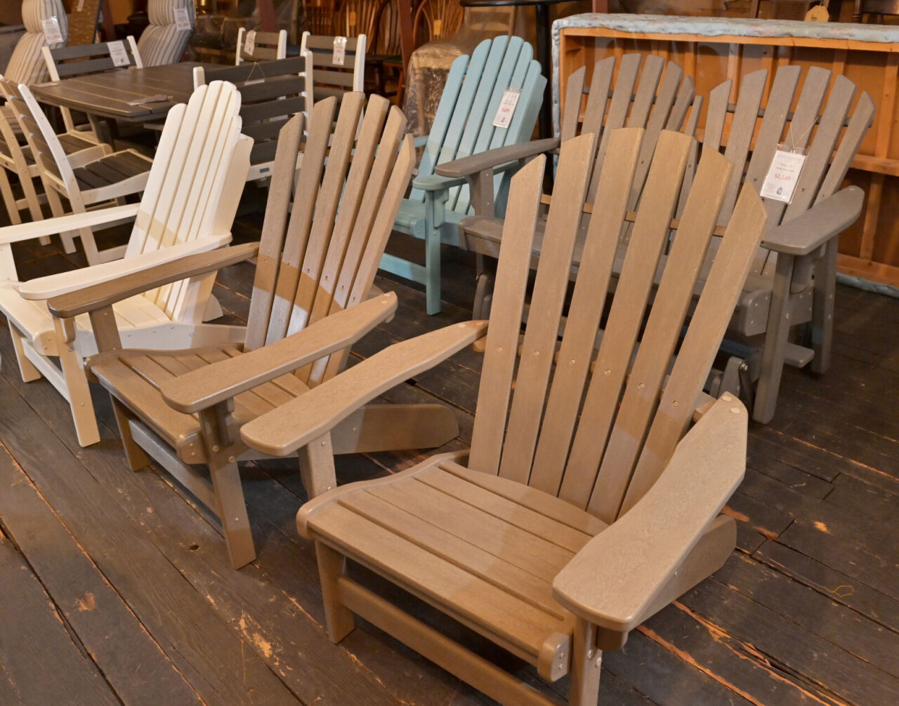
[[[181,279],[198,277],[207,272],[214,272],[228,265],[249,260],[257,252],[259,252],[259,243],[246,243],[219,248],[212,252],[187,255],[156,265],[156,267],[140,269],[125,277],[102,282],[93,287],[76,289],[62,296],[54,296],[47,302],[47,308],[54,316],[68,319],[80,313],[102,309],[104,306],[115,304],[129,296],[143,294],[155,287],[162,287]]]

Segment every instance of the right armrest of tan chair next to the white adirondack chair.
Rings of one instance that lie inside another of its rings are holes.
[[[159,391],[175,410],[185,414],[206,410],[256,385],[352,346],[395,312],[396,294],[393,292],[368,299],[261,349],[179,375],[163,383]]]

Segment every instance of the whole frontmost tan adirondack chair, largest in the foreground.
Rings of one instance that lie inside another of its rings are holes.
[[[743,190],[671,366],[732,167],[720,154],[703,156],[658,296],[651,297],[693,143],[663,132],[594,356],[642,133],[622,128],[609,138],[596,204],[604,217],[590,222],[560,342],[592,135],[562,144],[547,223],[556,247],[539,260],[541,306],[523,340],[545,155],[512,180],[485,339],[485,322],[467,322],[398,343],[320,385],[304,404],[288,402],[242,428],[245,443],[267,453],[314,448],[394,380],[472,341],[485,349],[467,459],[437,455],[300,508],[300,534],[316,542],[332,640],[352,631],[358,613],[499,702],[556,703],[355,582],[345,570],[350,559],[544,678],[570,674],[570,702],[592,706],[601,650],[621,647],[628,631],[733,551],[733,518],[718,513],[743,477],[748,417],[734,396],[703,399],[701,386],[751,267],[765,210],[752,189]],[[332,472],[329,460],[319,458],[323,477]]]

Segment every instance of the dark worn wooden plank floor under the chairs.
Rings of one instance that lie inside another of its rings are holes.
[[[253,238],[249,221],[238,240]],[[52,246],[16,257],[22,278],[80,260]],[[471,261],[448,257],[438,316],[420,291],[378,280],[399,311],[357,356],[467,318]],[[250,265],[220,275],[229,319],[245,316],[251,283]],[[832,371],[788,370],[777,416],[752,425],[726,509],[737,550],[605,656],[602,704],[899,703],[899,302],[839,287],[836,328]],[[259,559],[235,571],[189,493],[156,469],[127,470],[102,393],[102,442],[82,449],[58,393],[22,383],[5,333],[0,355],[0,703],[488,702],[365,622],[339,646],[327,640],[292,463],[245,468]],[[466,350],[388,397],[449,403],[458,448],[478,370]],[[420,457],[345,457],[340,480]]]

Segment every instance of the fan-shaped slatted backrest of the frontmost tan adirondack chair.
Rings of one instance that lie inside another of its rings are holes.
[[[565,499],[607,523],[653,485],[689,427],[766,222],[761,198],[752,188],[744,189],[685,324],[732,169],[721,154],[703,154],[661,283],[651,296],[695,142],[663,131],[603,319],[643,134],[642,128],[610,134],[597,191],[602,217],[590,221],[567,305],[593,136],[562,143],[546,228],[554,243],[539,258],[532,301],[540,305],[530,307],[523,340],[521,318],[545,157],[514,177],[517,188],[503,229],[468,463]],[[567,318],[559,341],[563,313]],[[687,332],[672,366],[684,325]]]

